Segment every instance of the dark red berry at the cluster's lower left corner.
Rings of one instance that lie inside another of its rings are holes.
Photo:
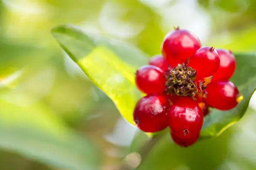
[[[144,132],[157,132],[168,126],[168,99],[161,95],[145,96],[134,108],[134,122]]]

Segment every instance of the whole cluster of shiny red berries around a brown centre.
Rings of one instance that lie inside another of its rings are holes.
[[[134,122],[145,132],[167,126],[174,142],[194,144],[209,108],[230,110],[243,99],[229,81],[236,68],[231,51],[201,47],[192,32],[175,28],[163,40],[162,55],[136,73],[145,94],[134,108]]]

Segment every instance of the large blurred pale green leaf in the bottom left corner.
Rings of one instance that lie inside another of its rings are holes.
[[[0,148],[58,169],[96,170],[98,150],[43,105],[0,100]]]

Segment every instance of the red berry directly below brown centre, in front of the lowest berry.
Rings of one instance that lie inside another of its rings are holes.
[[[195,138],[203,126],[203,121],[201,108],[189,97],[179,97],[169,112],[169,127],[181,139]]]

